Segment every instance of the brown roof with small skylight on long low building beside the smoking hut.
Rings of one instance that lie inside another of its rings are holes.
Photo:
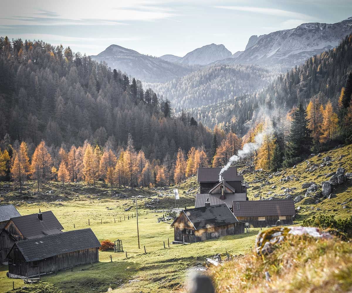
[[[239,203],[239,210],[237,209],[237,203]],[[234,201],[233,213],[236,217],[290,216],[296,214],[293,199]]]

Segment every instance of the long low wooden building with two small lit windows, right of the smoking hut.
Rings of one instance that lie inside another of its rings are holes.
[[[296,215],[292,199],[246,200],[233,202],[233,214],[250,227],[291,225]]]

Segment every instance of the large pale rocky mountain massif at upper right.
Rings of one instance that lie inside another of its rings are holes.
[[[305,23],[291,30],[251,36],[246,50],[224,64],[299,65],[307,58],[337,46],[352,30],[352,18],[335,24]]]

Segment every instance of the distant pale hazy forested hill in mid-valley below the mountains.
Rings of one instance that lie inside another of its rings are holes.
[[[277,73],[256,65],[207,66],[167,83],[146,83],[156,93],[167,96],[177,111],[227,103],[236,96],[262,89]]]

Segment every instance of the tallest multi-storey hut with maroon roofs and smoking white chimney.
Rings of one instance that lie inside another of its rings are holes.
[[[221,168],[198,168],[200,193],[196,195],[195,208],[226,204],[232,209],[233,201],[248,200],[247,188],[243,176],[237,174],[237,168],[230,167],[224,172]]]

